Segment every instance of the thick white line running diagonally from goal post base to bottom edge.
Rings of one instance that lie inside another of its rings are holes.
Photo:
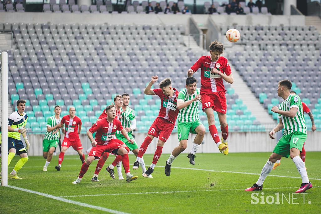
[[[110,213],[115,213],[115,214],[129,214],[129,213],[126,213],[126,212],[121,212],[121,211],[117,211],[117,210],[111,210],[111,209],[108,209],[108,208],[105,208],[105,207],[99,207],[99,206],[94,206],[94,205],[91,205],[91,204],[81,203],[81,202],[78,202],[78,201],[72,201],[72,200],[69,200],[69,199],[57,197],[57,196],[54,196],[54,195],[49,195],[49,194],[42,193],[42,192],[36,192],[36,191],[33,191],[33,190],[23,189],[23,188],[16,187],[16,186],[8,185],[7,187],[12,188],[12,189],[16,189],[16,190],[20,190],[20,191],[23,191],[23,192],[29,192],[29,193],[41,195],[41,196],[44,196],[44,197],[47,197],[47,198],[51,198],[51,199],[54,199],[54,200],[57,200],[57,201],[63,201],[63,202],[74,204],[74,205],[78,205],[78,206],[81,206],[81,207],[88,207],[88,208],[92,208],[92,209],[95,209],[95,210],[100,210],[100,211],[105,211],[105,212],[110,212]]]

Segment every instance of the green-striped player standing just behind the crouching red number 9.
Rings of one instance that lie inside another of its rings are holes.
[[[133,137],[133,129],[136,129],[136,119],[135,119],[135,112],[133,109],[129,108],[129,100],[130,96],[129,94],[123,94],[122,95],[124,103],[123,106],[120,108],[121,117],[120,122],[124,129],[127,131],[129,138],[134,140],[134,143],[128,142],[128,140],[122,135],[120,131],[116,131],[116,138],[123,141],[126,146],[134,153],[134,155],[137,157],[138,155],[138,146],[137,143]],[[141,158],[141,161],[139,165],[142,167],[143,173],[146,172],[145,162],[143,157]],[[148,178],[152,178],[152,175],[150,175]]]

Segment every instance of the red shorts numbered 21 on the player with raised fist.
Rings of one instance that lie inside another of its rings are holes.
[[[158,117],[154,120],[151,128],[149,128],[148,134],[154,136],[155,138],[159,137],[161,141],[166,142],[172,133],[174,126],[174,123]]]

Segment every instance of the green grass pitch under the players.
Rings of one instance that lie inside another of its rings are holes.
[[[164,167],[160,166],[165,165],[169,154],[162,154],[152,179],[144,178],[140,168],[131,169],[132,174],[139,176],[131,183],[113,180],[107,174],[105,168],[114,159],[114,156],[110,155],[100,172],[100,182],[91,182],[97,164],[97,161],[94,161],[82,183],[77,185],[72,182],[81,168],[78,156],[65,156],[60,172],[55,170],[58,156],[53,157],[48,172],[42,171],[45,159],[33,156],[19,171],[19,176],[24,179],[9,179],[8,183],[11,186],[64,196],[63,198],[72,201],[126,213],[321,213],[321,152],[306,154],[308,176],[314,188],[306,192],[304,202],[303,194],[292,195],[301,184],[301,178],[298,178],[300,175],[290,158],[282,158],[281,165],[272,170],[270,175],[286,177],[268,176],[263,191],[257,192],[259,203],[251,204],[251,200],[256,202],[251,198],[253,192],[245,192],[244,189],[257,181],[269,155],[270,153],[230,153],[228,156],[196,154],[196,164],[190,165],[187,154],[181,154],[173,162],[171,175],[167,177]],[[8,168],[9,172],[17,160],[18,157],[15,156]],[[130,155],[129,160],[133,164],[134,155]],[[146,165],[151,164],[152,155],[145,155],[144,160]],[[115,175],[117,178],[116,168]],[[123,175],[125,176],[124,172]],[[100,196],[82,196],[97,194]],[[280,204],[275,204],[276,194],[279,194]],[[265,204],[261,204],[261,197]],[[268,204],[267,197],[269,202],[273,197],[274,203]],[[0,187],[0,204],[0,213],[106,213],[103,210],[8,187]]]

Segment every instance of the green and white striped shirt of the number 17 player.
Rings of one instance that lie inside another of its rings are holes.
[[[290,111],[290,109],[293,107],[298,109],[294,118],[285,117],[279,114],[279,118],[282,120],[284,126],[283,135],[287,135],[295,131],[307,134],[307,127],[305,125],[303,107],[300,97],[296,94],[290,94],[288,98],[286,98],[279,105],[279,109],[283,111]]]

